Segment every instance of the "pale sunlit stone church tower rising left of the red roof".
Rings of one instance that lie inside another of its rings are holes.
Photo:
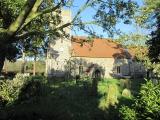
[[[68,10],[63,10],[61,15],[62,24],[68,23],[71,21],[71,12]],[[69,28],[65,28],[66,34],[71,33]],[[70,48],[71,41],[69,38],[59,38],[53,39],[50,43],[47,59],[46,59],[46,74],[49,76],[63,76],[65,74],[65,65],[66,62],[70,59]]]

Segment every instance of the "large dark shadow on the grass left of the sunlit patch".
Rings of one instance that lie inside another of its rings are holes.
[[[99,96],[90,95],[90,85],[75,81],[45,84],[42,96],[6,109],[10,120],[106,120],[98,108]]]

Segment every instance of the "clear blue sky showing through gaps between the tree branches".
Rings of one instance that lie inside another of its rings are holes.
[[[84,1],[86,1],[86,0],[75,0],[74,7],[72,7],[73,16],[76,14],[79,6],[84,4]],[[143,0],[135,0],[135,1],[139,5],[143,4]],[[83,21],[91,21],[92,20],[92,15],[94,13],[95,13],[95,10],[88,8],[81,13],[81,17],[82,17]],[[92,27],[94,28],[96,33],[102,34],[104,37],[108,37],[107,33],[103,32],[103,30],[100,27],[97,27],[97,26],[92,26]],[[117,24],[117,28],[120,29],[124,33],[134,33],[134,32],[137,31],[135,25],[124,25],[122,23]],[[83,31],[78,31],[77,29],[76,29],[76,32],[72,31],[72,34],[73,35],[81,35],[81,36],[86,36],[87,35]]]

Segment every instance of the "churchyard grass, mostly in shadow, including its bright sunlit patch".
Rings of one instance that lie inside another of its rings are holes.
[[[126,86],[124,80],[103,79],[98,95],[93,96],[90,84],[52,81],[43,86],[42,96],[8,108],[4,116],[11,120],[115,120],[120,105],[132,102],[132,96],[122,96]]]

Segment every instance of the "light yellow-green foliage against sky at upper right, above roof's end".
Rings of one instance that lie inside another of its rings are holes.
[[[160,13],[159,6],[159,0],[144,0],[143,4],[137,8],[136,13],[134,14],[133,21],[136,32],[121,34],[118,41],[123,45],[146,46],[145,43],[147,40],[153,37],[153,33],[152,35],[149,35],[148,32],[155,29],[157,26],[157,15]],[[147,32],[143,32],[144,30]],[[153,47],[153,50],[156,51],[157,49],[154,49]]]

